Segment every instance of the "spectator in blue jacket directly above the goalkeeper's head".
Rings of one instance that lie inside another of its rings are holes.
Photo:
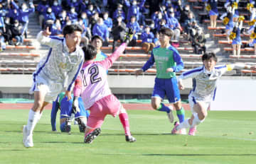
[[[110,33],[107,30],[107,25],[104,24],[103,19],[99,18],[97,23],[93,26],[92,35],[99,35],[102,37],[103,45],[108,45]]]

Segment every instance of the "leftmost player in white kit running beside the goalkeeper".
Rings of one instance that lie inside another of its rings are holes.
[[[41,118],[43,108],[65,90],[71,99],[71,87],[82,67],[84,54],[80,48],[82,28],[78,25],[66,25],[62,37],[49,37],[49,28],[38,33],[37,40],[50,46],[46,57],[39,62],[33,73],[34,103],[28,113],[28,123],[23,126],[23,145],[33,147],[33,129]]]

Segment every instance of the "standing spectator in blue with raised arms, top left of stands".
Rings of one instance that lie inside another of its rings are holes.
[[[24,2],[21,4],[21,8],[18,8],[18,5],[14,2],[14,0],[11,0],[11,4],[18,11],[18,21],[23,25],[22,35],[25,34],[25,37],[26,37],[27,30],[28,30],[28,15],[30,13],[35,12],[35,6],[33,6],[33,3],[31,3],[30,4],[31,8],[28,8],[26,6],[26,3]]]

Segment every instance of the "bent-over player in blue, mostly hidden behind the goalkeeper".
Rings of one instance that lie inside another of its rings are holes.
[[[53,131],[56,130],[56,116],[58,109],[60,109],[60,131],[70,132],[71,130],[71,115],[75,114],[75,121],[78,122],[79,130],[81,133],[85,132],[87,124],[87,117],[89,112],[85,110],[82,98],[75,99],[74,103],[78,103],[78,109],[73,108],[73,98],[68,100],[68,97],[64,97],[65,93],[60,93],[55,101],[53,101],[53,107],[50,114],[50,123]],[[73,95],[72,95],[73,96]]]

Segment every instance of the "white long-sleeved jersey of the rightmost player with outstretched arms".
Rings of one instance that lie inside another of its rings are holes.
[[[218,79],[226,72],[232,69],[242,69],[245,65],[228,64],[215,66],[213,71],[208,74],[205,66],[183,72],[178,76],[178,81],[186,78],[193,78],[193,88],[189,93],[195,100],[210,102],[214,100]]]

